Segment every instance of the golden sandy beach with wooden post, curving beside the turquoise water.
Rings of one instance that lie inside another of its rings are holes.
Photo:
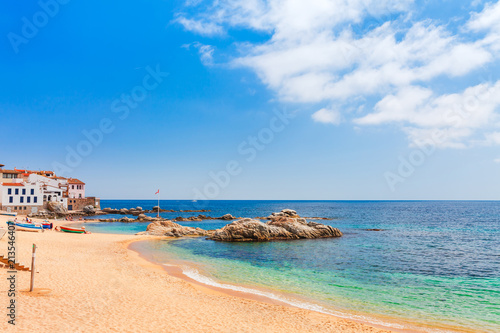
[[[5,227],[8,217],[0,217]],[[62,222],[55,222],[60,224]],[[63,224],[66,224],[64,222]],[[17,273],[16,325],[2,332],[384,332],[313,311],[220,293],[171,276],[127,245],[146,236],[17,232],[17,260],[38,247],[35,293]],[[7,237],[0,253],[7,252]],[[2,308],[8,305],[1,269]]]

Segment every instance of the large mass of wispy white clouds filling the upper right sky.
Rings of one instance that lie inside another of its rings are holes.
[[[412,0],[209,3],[197,14],[181,14],[179,22],[191,31],[198,22],[209,32],[269,34],[262,43],[239,44],[232,64],[254,71],[282,101],[324,104],[314,121],[338,124],[340,110],[372,99],[362,117],[343,111],[342,118],[364,126],[398,124],[411,144],[440,131],[444,139],[436,145],[442,148],[500,145],[490,138],[499,126],[498,82],[478,80],[441,94],[432,87],[498,61],[500,1],[465,13],[470,18],[455,32],[430,19],[413,20]]]

